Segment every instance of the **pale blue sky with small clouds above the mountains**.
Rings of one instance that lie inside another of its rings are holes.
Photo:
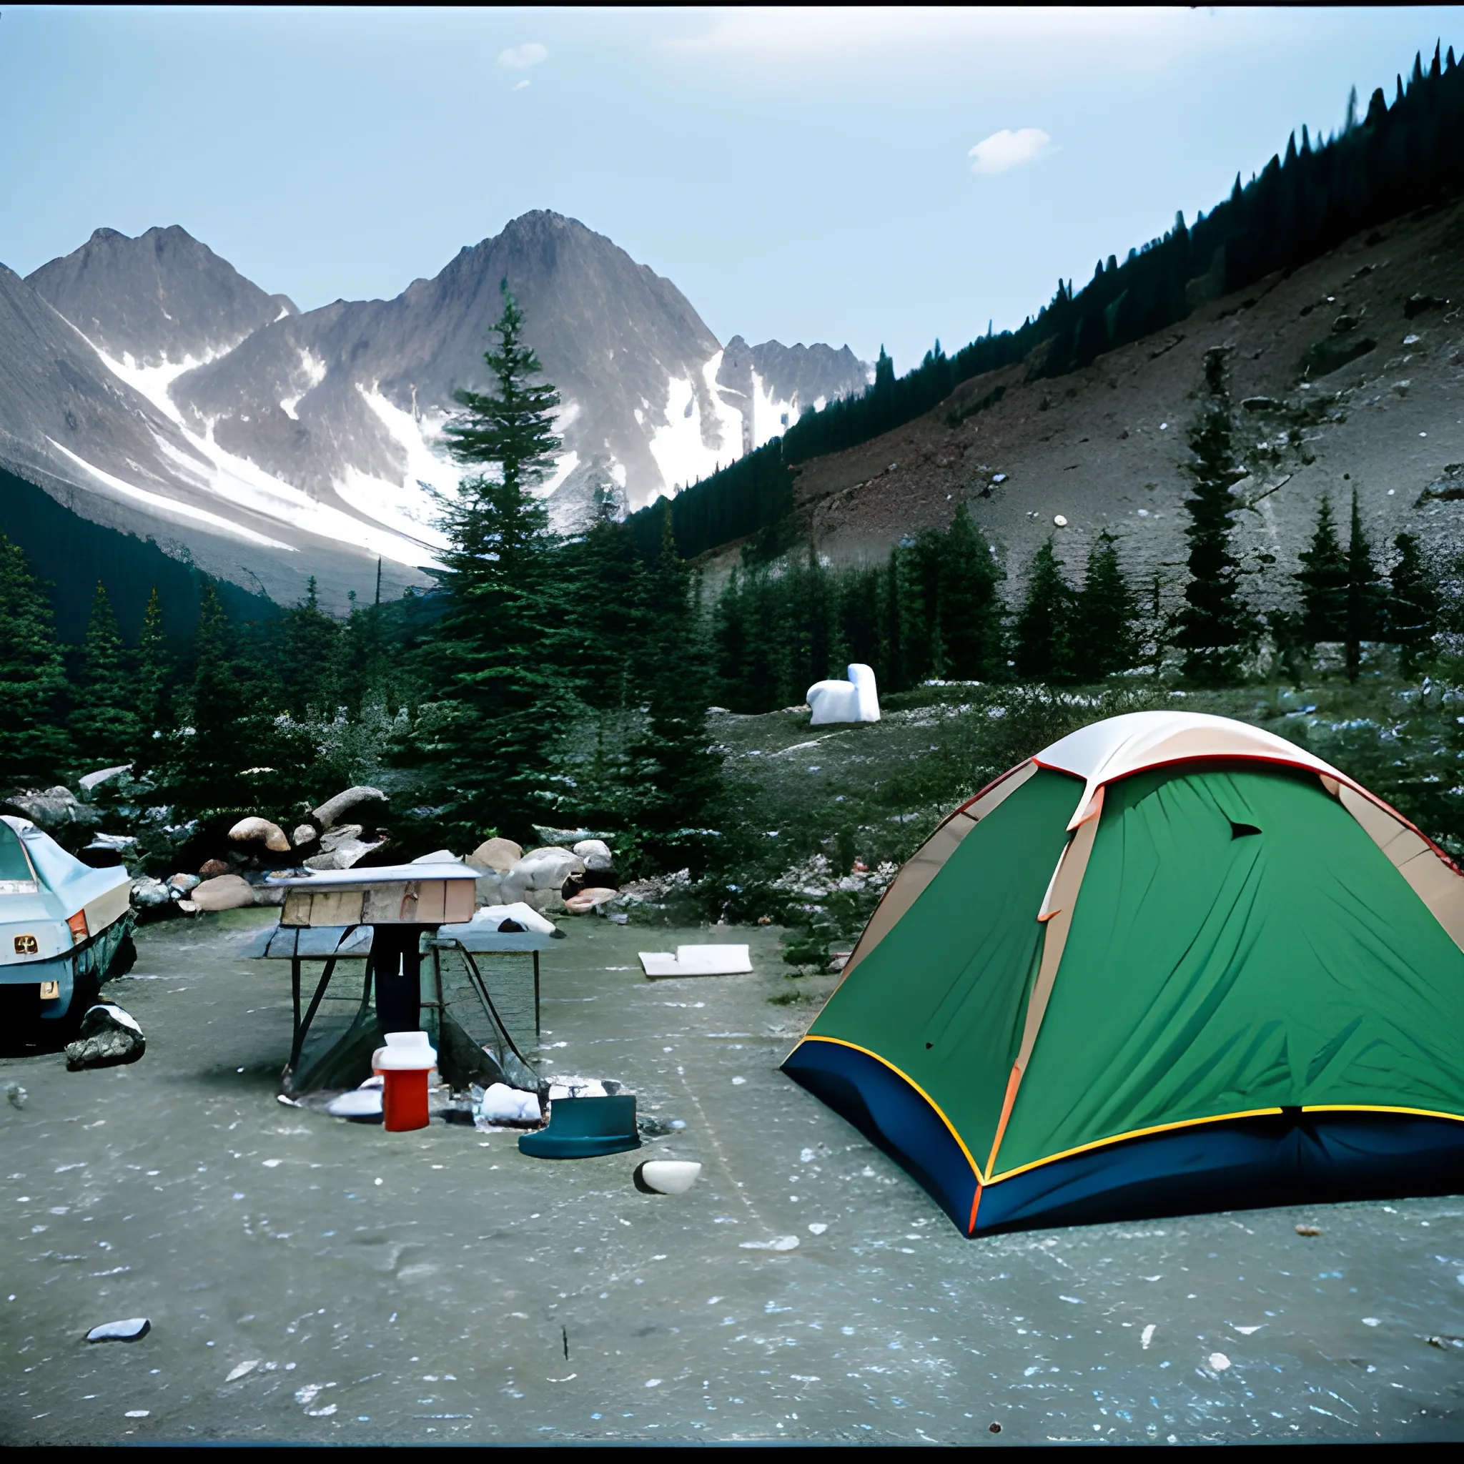
[[[1464,9],[0,13],[0,261],[182,224],[303,309],[552,208],[723,341],[1017,325]],[[978,149],[978,151],[972,151]]]

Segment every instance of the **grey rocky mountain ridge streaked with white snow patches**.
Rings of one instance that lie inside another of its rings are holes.
[[[545,485],[572,531],[713,471],[861,391],[845,347],[723,347],[685,296],[575,220],[534,211],[392,300],[300,312],[179,227],[97,230],[0,277],[0,464],[83,517],[277,600],[425,581],[439,429],[488,385],[507,280],[562,397]]]

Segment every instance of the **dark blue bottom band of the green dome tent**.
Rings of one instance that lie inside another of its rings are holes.
[[[966,1234],[975,1177],[940,1114],[858,1048],[801,1042],[783,1072],[883,1149]],[[976,1234],[1464,1192],[1464,1121],[1287,1108],[1104,1145],[987,1186]]]

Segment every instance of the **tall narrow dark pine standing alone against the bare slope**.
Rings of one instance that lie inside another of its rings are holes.
[[[1240,474],[1231,445],[1225,354],[1205,353],[1206,400],[1189,432],[1195,490],[1184,499],[1189,524],[1189,583],[1176,643],[1184,647],[1184,675],[1200,685],[1237,681],[1256,621],[1240,596],[1240,565],[1230,552],[1236,514],[1231,485]]]

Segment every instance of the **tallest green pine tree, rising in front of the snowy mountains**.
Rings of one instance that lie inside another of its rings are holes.
[[[562,624],[549,515],[533,489],[559,447],[553,386],[502,287],[498,344],[483,354],[496,394],[460,391],[445,429],[454,457],[482,464],[441,499],[448,609],[435,641],[439,700],[407,758],[433,767],[463,839],[527,836],[545,802],[550,744],[571,691],[553,656]]]

